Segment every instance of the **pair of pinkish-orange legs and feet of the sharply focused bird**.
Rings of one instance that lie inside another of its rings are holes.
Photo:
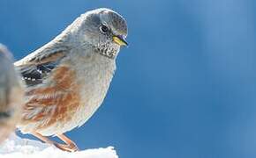
[[[38,138],[39,140],[42,140],[45,143],[48,143],[50,145],[54,145],[55,147],[63,150],[63,151],[67,151],[67,152],[75,152],[78,151],[79,148],[76,146],[76,144],[70,140],[69,138],[67,138],[64,134],[59,134],[56,135],[60,140],[63,140],[65,142],[65,144],[61,144],[61,143],[57,143],[56,141],[53,140],[49,140],[49,138],[41,135],[40,133],[32,133],[36,138]]]

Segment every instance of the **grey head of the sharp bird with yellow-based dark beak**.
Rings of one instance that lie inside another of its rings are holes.
[[[115,11],[105,8],[87,11],[75,23],[72,27],[78,39],[94,47],[99,54],[115,58],[120,47],[128,46],[126,21]]]

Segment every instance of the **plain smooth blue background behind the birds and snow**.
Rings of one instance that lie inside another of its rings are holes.
[[[68,135],[121,158],[256,157],[253,0],[0,1],[0,42],[16,59],[79,14],[109,7],[129,24],[108,97]]]

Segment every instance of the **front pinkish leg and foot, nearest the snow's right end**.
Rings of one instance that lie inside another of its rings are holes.
[[[66,137],[64,134],[57,134],[56,135],[60,140],[63,140],[65,144],[56,144],[56,147],[59,147],[60,149],[64,151],[69,152],[75,152],[79,151],[79,147],[68,137]]]

